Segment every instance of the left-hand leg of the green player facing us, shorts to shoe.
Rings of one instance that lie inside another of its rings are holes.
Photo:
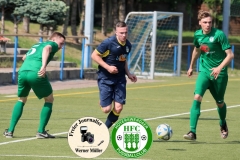
[[[196,140],[197,123],[200,116],[201,102],[204,93],[209,87],[209,78],[204,72],[200,72],[196,81],[194,99],[190,109],[190,132],[183,137],[188,140]]]

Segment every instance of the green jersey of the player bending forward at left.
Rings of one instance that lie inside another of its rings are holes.
[[[52,51],[49,54],[47,64],[53,59],[53,56],[58,51],[58,44],[53,41],[46,41],[42,43],[37,43],[30,48],[30,50],[26,53],[26,59],[22,64],[19,71],[39,71],[42,67],[42,52],[44,47],[47,45],[52,46]]]

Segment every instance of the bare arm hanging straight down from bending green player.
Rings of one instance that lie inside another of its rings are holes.
[[[52,46],[47,45],[46,47],[43,48],[42,52],[42,67],[38,71],[38,76],[39,77],[44,77],[46,73],[46,67],[47,67],[47,60],[49,57],[50,52],[52,51]]]

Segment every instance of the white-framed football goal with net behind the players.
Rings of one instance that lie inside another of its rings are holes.
[[[130,72],[148,79],[157,75],[180,76],[183,13],[130,12],[125,22],[132,43]]]

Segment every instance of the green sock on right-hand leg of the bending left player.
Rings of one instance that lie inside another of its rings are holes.
[[[52,103],[44,103],[42,111],[40,113],[40,124],[38,127],[38,132],[43,133],[45,131],[45,127],[50,119],[52,113]]]

